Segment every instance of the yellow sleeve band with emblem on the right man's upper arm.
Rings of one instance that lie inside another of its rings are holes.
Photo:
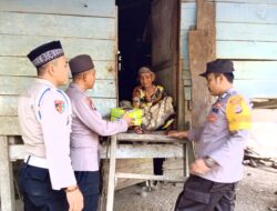
[[[250,129],[250,109],[242,96],[229,97],[226,105],[226,117],[230,131]]]

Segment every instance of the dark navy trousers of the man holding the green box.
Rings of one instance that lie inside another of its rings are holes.
[[[98,211],[100,193],[99,171],[75,171],[78,185],[83,193],[83,211]]]

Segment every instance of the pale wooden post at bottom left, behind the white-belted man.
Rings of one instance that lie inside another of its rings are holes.
[[[1,210],[14,211],[14,188],[11,162],[9,158],[8,137],[0,135],[0,192]]]

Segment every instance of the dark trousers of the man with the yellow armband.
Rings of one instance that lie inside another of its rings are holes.
[[[235,183],[218,183],[189,175],[178,195],[175,211],[234,211]]]

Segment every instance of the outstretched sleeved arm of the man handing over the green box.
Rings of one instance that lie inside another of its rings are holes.
[[[92,131],[100,135],[112,135],[127,130],[127,122],[124,119],[117,121],[103,120],[101,114],[91,108],[85,98],[75,103],[75,115]]]

